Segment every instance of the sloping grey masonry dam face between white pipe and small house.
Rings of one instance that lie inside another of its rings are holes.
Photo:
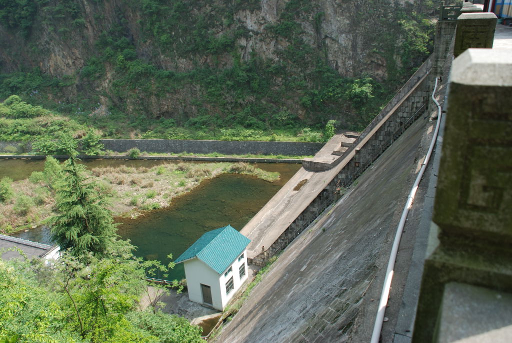
[[[376,271],[386,263],[431,126],[428,117],[418,119],[295,238],[218,341],[358,341],[371,330],[378,303],[371,299],[382,282]]]

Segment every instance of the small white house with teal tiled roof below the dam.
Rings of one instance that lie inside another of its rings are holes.
[[[247,279],[250,239],[230,225],[208,231],[176,259],[183,263],[190,301],[224,310]]]

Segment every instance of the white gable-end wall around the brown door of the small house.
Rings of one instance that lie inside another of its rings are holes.
[[[201,284],[210,286],[212,306],[223,310],[221,294],[225,292],[224,286],[219,283],[219,274],[203,261],[194,258],[184,262],[185,277],[187,279],[188,298],[190,301],[203,304]],[[222,290],[221,290],[222,289]]]

